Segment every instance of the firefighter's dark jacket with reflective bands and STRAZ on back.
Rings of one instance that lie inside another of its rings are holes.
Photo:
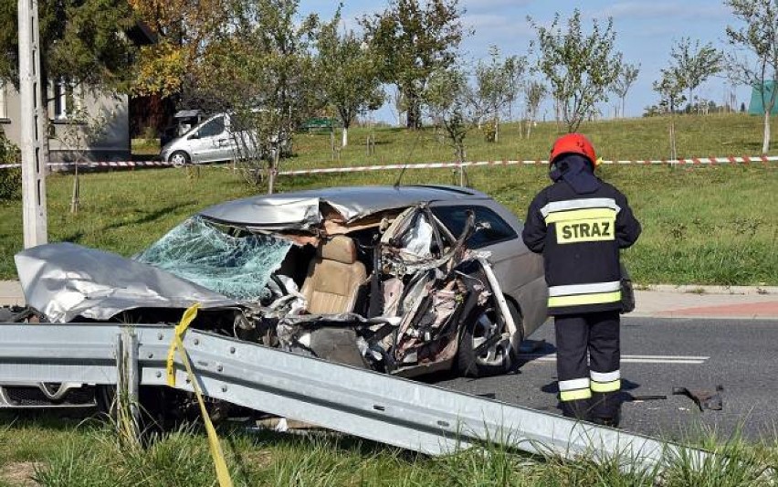
[[[641,228],[626,196],[598,186],[582,195],[559,179],[530,205],[521,237],[543,254],[551,315],[621,309],[619,249],[635,243]]]

